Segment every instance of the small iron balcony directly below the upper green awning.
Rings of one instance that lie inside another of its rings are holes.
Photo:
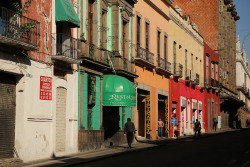
[[[52,59],[79,64],[79,41],[66,34],[52,34]]]

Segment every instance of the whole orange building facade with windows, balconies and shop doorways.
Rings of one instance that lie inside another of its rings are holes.
[[[163,136],[168,137],[169,77],[168,56],[169,6],[171,1],[139,1],[134,9],[134,61],[137,87],[135,126],[137,135],[158,138],[158,121],[164,122]]]

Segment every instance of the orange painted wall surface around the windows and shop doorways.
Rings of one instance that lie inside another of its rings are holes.
[[[157,57],[157,31],[161,31],[160,37],[160,55],[161,58],[164,58],[164,35],[168,35],[169,29],[169,20],[162,16],[157,12],[156,8],[159,8],[163,13],[169,16],[169,5],[159,0],[151,0],[153,5],[149,5],[143,0],[138,1],[134,7],[134,35],[133,41],[137,43],[137,16],[141,16],[141,39],[140,39],[140,47],[146,48],[145,44],[145,27],[146,20],[149,21],[149,51],[154,54],[154,64],[156,63]],[[153,6],[156,6],[154,8]],[[136,57],[137,53],[134,49],[134,56]],[[142,67],[135,66],[136,74],[139,75],[136,82],[144,83],[146,85],[151,86],[151,137],[152,139],[156,139],[157,136],[157,88],[163,89],[165,91],[169,91],[169,78],[164,77],[163,75],[159,75],[157,73],[153,73],[147,69],[143,69]]]

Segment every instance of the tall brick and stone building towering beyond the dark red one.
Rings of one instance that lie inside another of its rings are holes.
[[[233,127],[237,109],[242,105],[236,93],[236,21],[239,20],[233,0],[175,0],[182,14],[191,16],[204,41],[219,54],[220,110],[222,128]],[[206,12],[204,14],[204,11]],[[211,19],[212,18],[212,19]]]

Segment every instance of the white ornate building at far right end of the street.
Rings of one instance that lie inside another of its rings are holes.
[[[238,120],[241,127],[246,127],[246,119],[250,116],[250,71],[245,47],[243,44],[241,50],[239,36],[236,42],[236,87],[239,99],[245,103],[238,111]]]

